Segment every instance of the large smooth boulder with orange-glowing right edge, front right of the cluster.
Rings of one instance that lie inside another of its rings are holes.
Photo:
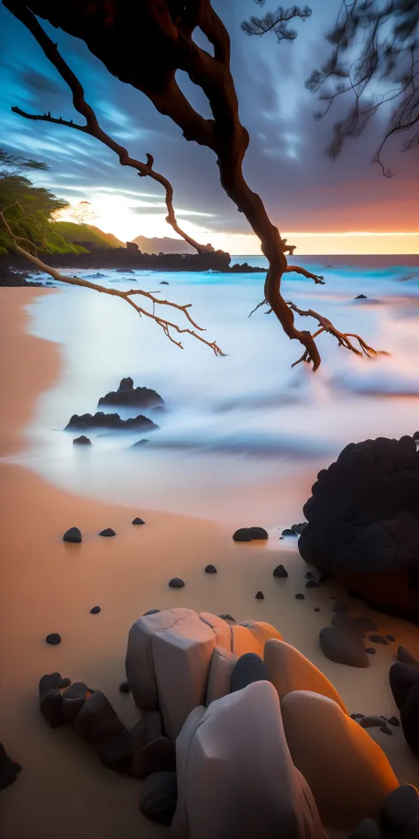
[[[309,784],[325,827],[352,830],[378,819],[385,796],[399,786],[385,753],[329,697],[288,693],[281,711],[293,763]]]

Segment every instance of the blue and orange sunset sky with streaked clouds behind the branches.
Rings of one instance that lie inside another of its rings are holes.
[[[268,0],[268,3],[270,0]],[[232,37],[232,71],[240,118],[251,142],[245,163],[248,183],[266,204],[282,235],[309,253],[416,253],[419,250],[419,165],[417,149],[400,154],[393,141],[386,179],[370,160],[383,134],[385,113],[361,138],[347,142],[337,161],[324,155],[339,108],[313,119],[316,96],[304,82],[323,64],[331,47],[324,40],[340,0],[313,0],[311,19],[297,23],[298,38],[278,44],[274,35],[249,38],[240,22],[257,14],[253,0],[216,0],[214,6]],[[275,3],[271,7],[276,7]],[[265,8],[269,8],[268,4]],[[255,236],[219,185],[212,152],[187,142],[178,127],[157,113],[149,100],[110,76],[84,43],[49,25],[45,28],[85,88],[103,128],[133,157],[155,158],[155,167],[173,183],[175,207],[185,229],[202,242],[232,253],[258,253]],[[72,204],[88,200],[95,225],[124,242],[136,235],[172,235],[164,221],[164,198],[153,181],[123,169],[92,138],[70,128],[28,122],[12,105],[33,113],[78,121],[72,96],[18,20],[0,5],[0,144],[50,165],[39,182]],[[180,76],[181,78],[181,76]],[[200,91],[187,79],[182,87],[209,116]],[[344,105],[342,100],[342,105]],[[348,104],[348,103],[347,103]]]

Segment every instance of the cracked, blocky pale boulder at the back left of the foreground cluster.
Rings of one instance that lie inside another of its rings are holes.
[[[271,637],[281,636],[270,624],[230,626],[217,615],[199,615],[192,609],[143,615],[131,627],[126,650],[126,679],[133,699],[141,709],[160,710],[164,732],[174,740],[193,708],[208,702],[215,648],[237,658],[247,652],[263,658],[264,643]],[[211,688],[209,701],[218,689],[211,693]]]

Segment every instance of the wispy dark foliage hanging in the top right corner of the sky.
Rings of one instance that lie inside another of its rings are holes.
[[[260,6],[265,0],[255,0]],[[278,41],[293,41],[297,33],[289,28],[293,19],[307,19],[311,10],[294,6],[265,12],[242,24],[248,35],[273,32]],[[326,149],[331,158],[339,156],[347,137],[358,137],[369,119],[392,103],[385,135],[373,158],[386,177],[382,151],[391,137],[406,137],[403,150],[419,145],[419,0],[344,0],[335,26],[326,36],[331,55],[320,70],[306,82],[326,103],[316,112],[322,119],[335,100],[345,96],[351,104],[344,119],[333,127],[333,138]]]

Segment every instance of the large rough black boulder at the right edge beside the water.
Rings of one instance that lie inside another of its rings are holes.
[[[350,443],[317,475],[301,557],[367,603],[419,623],[419,451],[413,437]]]

